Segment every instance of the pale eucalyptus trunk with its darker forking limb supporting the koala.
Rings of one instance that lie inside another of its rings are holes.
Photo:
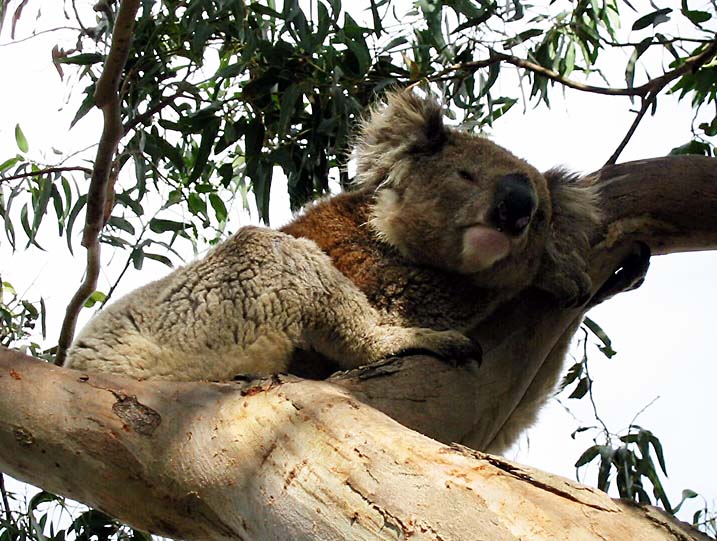
[[[660,254],[717,247],[716,166],[670,157],[583,179],[600,187],[606,217],[596,293],[636,242]],[[476,330],[480,372],[409,357],[330,382],[136,382],[3,350],[0,470],[177,538],[706,539],[396,422],[500,448],[559,373],[582,316],[527,291]]]

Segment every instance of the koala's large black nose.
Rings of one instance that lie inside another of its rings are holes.
[[[509,235],[520,235],[530,224],[538,197],[522,173],[505,175],[498,181],[493,202],[493,223]]]

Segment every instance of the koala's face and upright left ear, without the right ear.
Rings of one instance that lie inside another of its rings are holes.
[[[440,106],[394,93],[362,126],[356,182],[371,227],[411,261],[488,287],[527,284],[551,218],[545,177],[495,143],[443,123]]]

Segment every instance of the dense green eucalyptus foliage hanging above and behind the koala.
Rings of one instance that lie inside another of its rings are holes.
[[[168,264],[161,252],[177,238],[213,243],[226,234],[232,205],[246,206],[249,191],[268,221],[270,187],[279,169],[294,209],[326,193],[331,180],[345,186],[349,177],[341,166],[349,134],[387,87],[430,83],[480,128],[520,97],[518,85],[514,95],[495,95],[504,66],[496,52],[553,73],[550,78],[526,68],[521,75],[531,84],[530,95],[549,103],[550,89],[561,78],[602,75],[600,56],[610,48],[634,50],[626,67],[631,86],[646,51],[668,51],[679,65],[711,39],[705,25],[713,14],[683,2],[680,13],[695,26],[696,37],[689,38],[699,43],[655,30],[671,16],[670,8],[638,18],[633,31],[647,34],[639,43],[620,43],[623,3],[630,6],[617,0],[551,2],[550,9],[519,1],[418,0],[407,13],[397,13],[391,0],[373,0],[366,12],[349,11],[340,0],[287,0],[281,9],[271,0],[146,0],[123,78],[125,137],[114,166],[120,180],[102,241],[131,250],[137,268],[144,257]],[[109,47],[117,5],[101,7],[94,25],[77,21],[78,46],[54,54],[58,68],[75,67],[86,81],[73,124],[93,106]],[[358,22],[362,16],[368,22]],[[707,88],[712,74],[711,67],[689,73],[676,88],[692,94],[695,104],[708,102],[714,99]],[[705,133],[714,126],[707,123]],[[120,174],[128,164],[133,174]],[[5,233],[14,245],[10,217],[19,213],[35,242],[52,200],[58,229],[71,248],[74,219],[86,204],[75,183],[84,186],[85,179],[41,174],[46,169],[23,152],[0,166],[0,182],[34,174],[15,185],[2,183]],[[21,193],[32,201],[12,206]],[[149,201],[156,208],[150,210]]]

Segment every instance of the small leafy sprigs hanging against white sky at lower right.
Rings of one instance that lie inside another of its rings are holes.
[[[612,358],[616,351],[605,331],[590,318],[585,319],[582,331],[583,337],[580,341],[582,358],[570,367],[561,382],[560,390],[564,391],[574,385],[568,398],[587,397],[591,402],[595,420],[600,426],[581,426],[573,432],[573,438],[578,433],[597,432],[593,444],[585,449],[575,462],[576,473],[579,474],[580,469],[589,464],[597,463],[597,487],[600,490],[609,492],[614,481],[620,498],[638,503],[659,504],[667,512],[676,514],[685,501],[696,498],[698,494],[693,490],[685,489],[682,491],[680,502],[673,505],[661,479],[662,475],[667,476],[667,466],[659,438],[650,430],[635,424],[634,420],[627,430],[620,434],[610,431],[602,421],[593,397],[593,380],[589,372],[589,336],[597,339],[597,348],[606,358]],[[650,487],[652,496],[648,493]],[[707,505],[694,513],[692,522],[707,533],[711,531],[710,528],[714,530],[714,517]]]

